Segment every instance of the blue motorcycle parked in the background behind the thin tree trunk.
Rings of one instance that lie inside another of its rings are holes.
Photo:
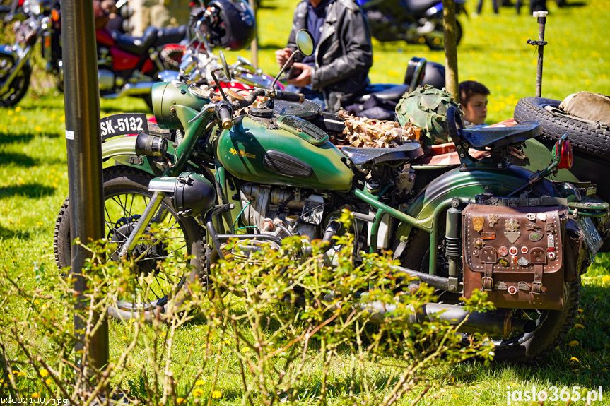
[[[465,13],[466,0],[455,1],[455,15]],[[404,40],[409,44],[426,42],[430,49],[442,50],[442,2],[438,0],[358,0],[368,18],[370,33],[379,41]],[[457,44],[462,24],[456,20]]]

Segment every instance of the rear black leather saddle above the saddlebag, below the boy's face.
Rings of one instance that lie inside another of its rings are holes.
[[[540,124],[526,121],[512,127],[474,127],[462,129],[460,135],[472,148],[498,148],[539,136]]]

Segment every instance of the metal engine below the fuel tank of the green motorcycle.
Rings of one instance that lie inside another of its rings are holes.
[[[324,198],[307,196],[303,190],[248,183],[240,189],[244,206],[242,220],[261,234],[280,237],[300,235],[310,241],[320,238]],[[279,232],[279,233],[278,233]]]

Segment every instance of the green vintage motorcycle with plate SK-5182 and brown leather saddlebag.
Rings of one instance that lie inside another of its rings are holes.
[[[308,32],[298,34],[298,46],[312,53]],[[356,249],[392,250],[401,263],[397,275],[438,289],[439,302],[424,314],[459,323],[468,315],[460,297],[488,292],[498,310],[469,314],[462,329],[488,333],[497,357],[536,357],[572,325],[580,275],[602,246],[609,205],[594,197],[592,184],[547,179],[569,167],[565,137],[551,163],[534,173],[508,158],[539,133],[536,123],[464,129],[451,107],[459,165],[424,165],[428,152],[420,143],[339,150],[326,131],[340,125],[336,117],[278,114],[281,103],[281,112],[298,111],[303,95],[259,88],[221,95],[213,101],[194,85],[158,83],[158,125],[177,136],[144,129],[102,143],[104,160],[115,163],[104,169],[107,238],[119,243],[115,258],[131,258],[136,273],[153,275],[142,287],[150,297],[118,301],[115,316],[165,309],[172,292],[227,254],[228,239],[238,240],[233,258],[244,261],[245,252],[279,247],[284,237],[322,239],[331,242],[332,263],[335,220],[348,208]],[[141,126],[129,115],[102,121],[107,136]],[[486,157],[473,157],[473,150]],[[66,200],[55,232],[61,268],[70,263],[69,210]],[[184,268],[192,271],[165,273],[157,262],[167,257],[191,258]]]

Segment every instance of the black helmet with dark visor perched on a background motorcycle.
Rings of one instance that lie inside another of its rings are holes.
[[[242,49],[254,38],[254,12],[244,0],[212,0],[209,32],[212,44],[226,49]]]

